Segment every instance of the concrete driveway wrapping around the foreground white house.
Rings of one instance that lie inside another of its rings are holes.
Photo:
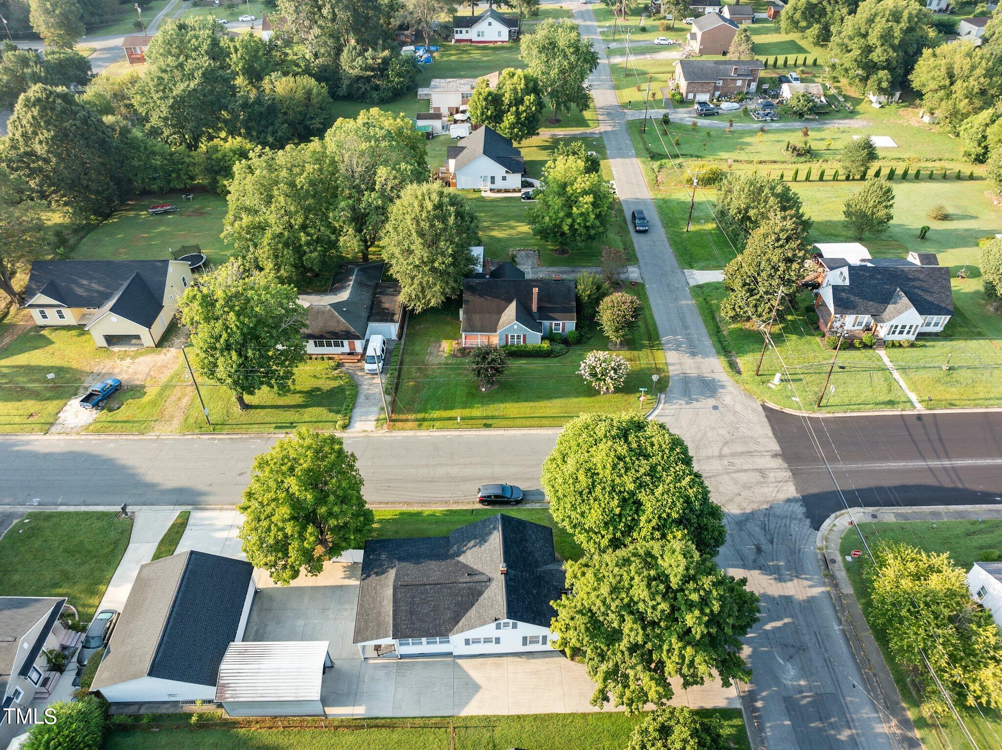
[[[595,711],[584,667],[558,652],[519,656],[364,661],[352,644],[359,564],[329,563],[317,578],[280,587],[258,571],[261,589],[244,641],[328,640],[329,716],[463,716]],[[737,708],[732,688],[676,689],[678,705]]]

